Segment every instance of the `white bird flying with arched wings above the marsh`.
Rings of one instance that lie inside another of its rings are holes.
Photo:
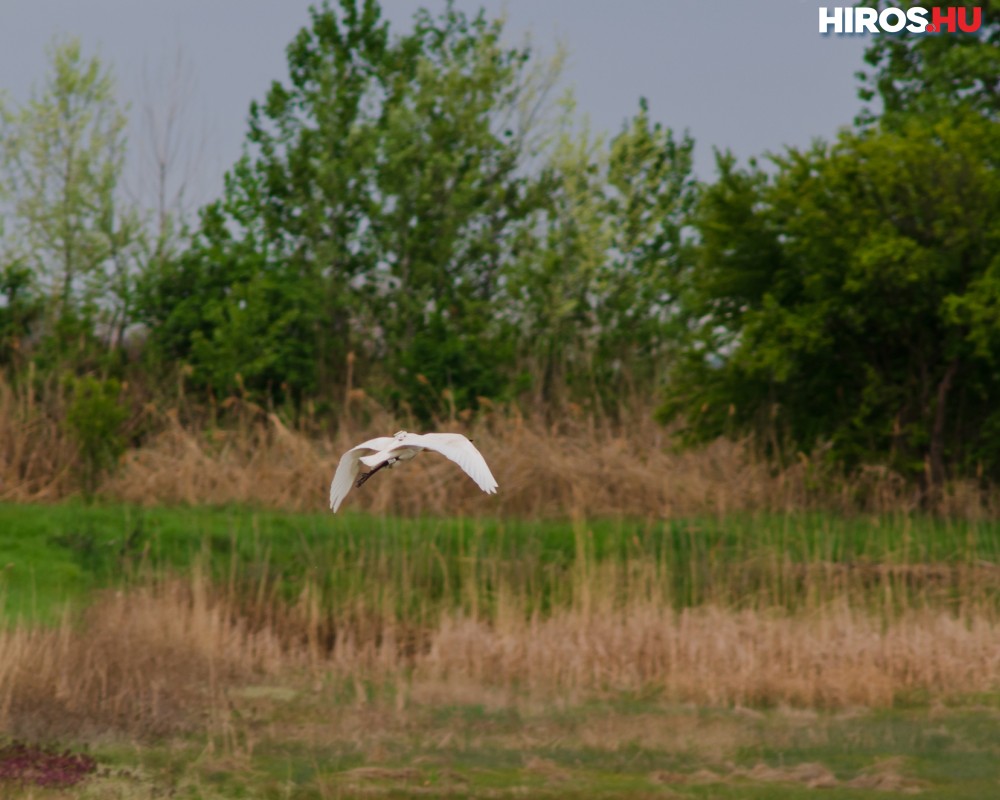
[[[392,469],[402,461],[416,458],[421,450],[433,450],[454,461],[480,489],[487,494],[496,494],[496,478],[471,439],[466,439],[460,433],[421,434],[399,431],[393,436],[379,436],[362,442],[340,457],[340,464],[330,483],[330,508],[336,513],[352,486],[360,489],[380,469]],[[365,451],[368,451],[368,455],[364,455]],[[371,467],[371,470],[359,478],[361,464]]]

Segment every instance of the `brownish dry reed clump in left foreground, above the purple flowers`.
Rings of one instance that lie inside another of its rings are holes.
[[[55,629],[0,632],[0,720],[25,738],[159,735],[204,720],[228,685],[287,661],[272,631],[251,630],[196,571],[108,592]]]

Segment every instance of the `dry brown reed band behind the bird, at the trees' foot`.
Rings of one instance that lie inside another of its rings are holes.
[[[321,510],[344,450],[408,426],[359,391],[332,434],[316,424],[293,429],[235,398],[226,405],[225,426],[183,423],[177,409],[137,409],[132,427],[151,433],[126,453],[99,493],[141,504]],[[51,501],[77,490],[76,450],[60,414],[58,398],[41,404],[30,390],[14,391],[0,380],[0,500]],[[517,408],[487,407],[475,418],[443,420],[439,428],[476,440],[500,483],[496,497],[485,497],[453,465],[427,455],[353,491],[346,507],[401,515],[564,517],[572,511],[648,518],[807,508],[910,511],[919,502],[899,476],[879,468],[843,478],[821,457],[798,454],[778,469],[750,443],[727,439],[678,452],[648,406],[613,421],[569,405],[555,423]],[[937,510],[984,517],[1000,510],[1000,501],[955,483]]]

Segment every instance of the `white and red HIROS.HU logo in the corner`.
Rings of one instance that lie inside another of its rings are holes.
[[[964,8],[934,6],[913,8],[844,8],[837,6],[819,10],[820,33],[974,33],[983,23],[980,6]]]

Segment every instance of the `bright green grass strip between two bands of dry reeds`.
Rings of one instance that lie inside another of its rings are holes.
[[[1000,522],[801,513],[570,523],[0,504],[7,619],[53,621],[94,588],[195,561],[218,580],[251,590],[264,580],[287,597],[309,581],[331,605],[368,598],[385,608],[387,587],[405,589],[393,593],[403,619],[473,601],[488,608],[501,584],[545,610],[568,601],[575,571],[629,562],[655,564],[674,606],[794,607],[886,581],[904,596],[960,602],[978,566],[973,590],[996,588]]]

